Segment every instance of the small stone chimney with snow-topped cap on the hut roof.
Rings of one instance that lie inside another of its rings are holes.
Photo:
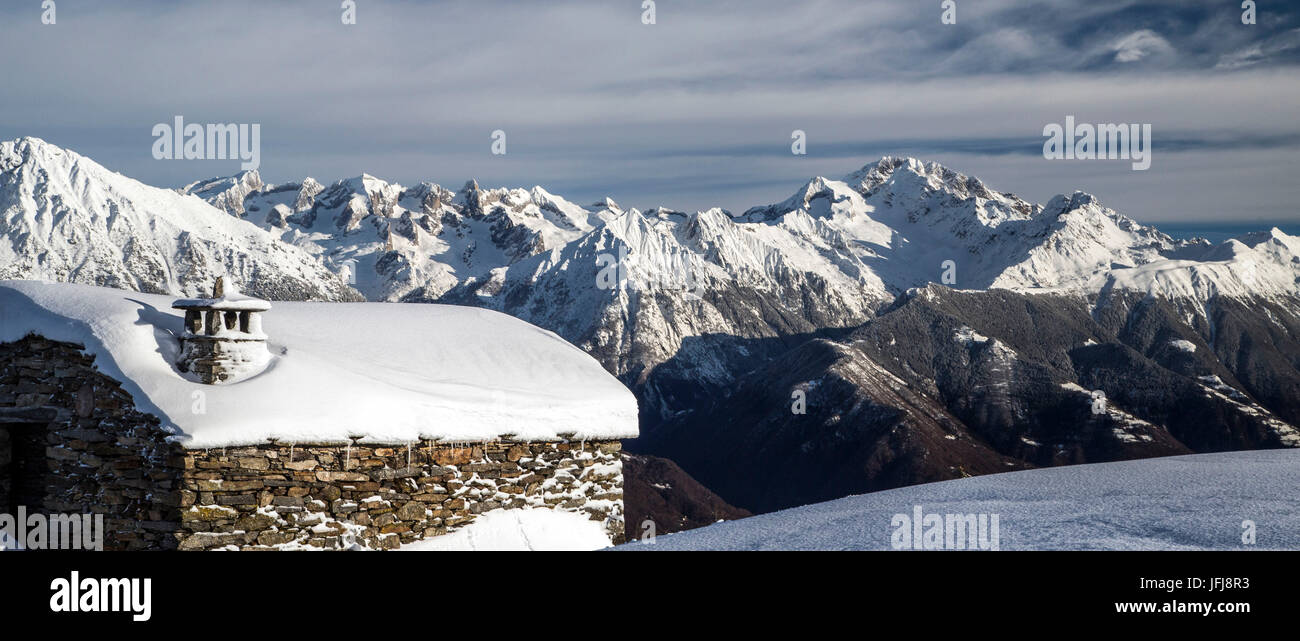
[[[181,299],[172,308],[185,311],[177,369],[200,382],[237,382],[260,373],[270,360],[261,333],[261,312],[270,303],[239,294],[234,286],[228,291],[225,278],[217,278],[212,298]]]

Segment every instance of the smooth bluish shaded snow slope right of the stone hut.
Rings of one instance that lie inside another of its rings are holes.
[[[1002,550],[1300,549],[1300,451],[1069,465],[846,497],[623,550],[889,550],[894,515],[998,515]],[[1243,521],[1256,545],[1242,542]]]

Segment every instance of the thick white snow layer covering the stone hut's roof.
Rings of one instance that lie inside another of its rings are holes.
[[[268,438],[408,443],[637,436],[637,402],[623,384],[554,333],[503,313],[281,302],[264,316],[266,369],[233,385],[203,385],[176,371],[183,319],[170,309],[173,300],[0,281],[0,342],[36,333],[84,345],[140,411],[159,416],[190,449]]]

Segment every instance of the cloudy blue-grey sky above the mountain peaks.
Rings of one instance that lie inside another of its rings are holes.
[[[0,8],[0,138],[151,185],[155,124],[261,125],[261,174],[533,186],[580,204],[788,198],[883,155],[1143,221],[1300,221],[1300,7],[1240,1],[39,0]],[[1150,124],[1147,172],[1043,157],[1043,127]],[[491,131],[507,153],[490,153]],[[807,155],[790,133],[807,133]]]

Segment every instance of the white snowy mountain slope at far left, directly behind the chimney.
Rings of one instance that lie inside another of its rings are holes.
[[[203,199],[36,138],[0,143],[0,278],[196,295],[217,276],[266,299],[359,298],[312,256]]]

